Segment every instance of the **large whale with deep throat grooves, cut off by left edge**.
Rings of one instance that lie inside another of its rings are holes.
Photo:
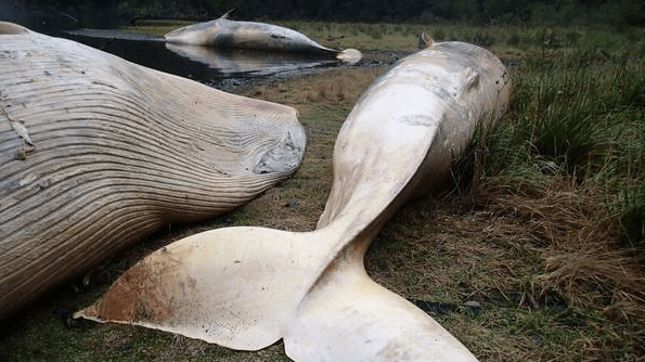
[[[233,95],[0,23],[0,320],[168,222],[289,177],[305,131]]]

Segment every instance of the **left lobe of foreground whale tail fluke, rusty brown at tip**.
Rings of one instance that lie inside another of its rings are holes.
[[[237,350],[268,347],[282,338],[324,268],[315,249],[322,241],[305,235],[238,227],[182,238],[128,269],[74,316]]]

